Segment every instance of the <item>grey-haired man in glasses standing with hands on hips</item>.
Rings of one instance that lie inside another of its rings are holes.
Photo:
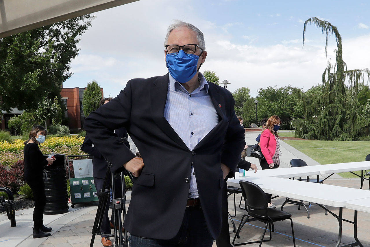
[[[207,56],[199,29],[172,24],[165,56],[168,74],[129,80],[84,128],[113,171],[137,177],[124,222],[131,247],[211,247],[221,231],[223,179],[236,169],[245,131],[232,94],[198,72]],[[110,131],[122,126],[142,158]]]

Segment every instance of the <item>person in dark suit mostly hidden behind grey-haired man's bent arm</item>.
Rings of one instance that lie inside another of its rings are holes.
[[[112,98],[110,98],[110,97],[109,98],[103,98],[100,102],[100,105],[102,106],[102,105],[108,103],[109,101],[111,101],[111,99]],[[128,148],[130,148],[130,146],[128,144],[127,131],[124,127],[119,128],[119,129],[115,129],[114,133],[118,136],[118,138],[120,138],[120,140],[122,142],[124,142],[126,144],[126,146]],[[107,174],[107,167],[108,167],[107,161],[105,161],[102,154],[95,147],[95,145],[93,144],[93,142],[89,138],[88,134],[86,134],[84,142],[81,145],[81,150],[84,151],[87,154],[90,154],[90,155],[94,156],[94,159],[92,159],[92,175],[94,176],[95,188],[99,192],[103,188],[105,175]],[[122,197],[121,191],[122,191],[121,190],[121,181],[119,179],[116,179],[116,181],[115,181],[115,197],[116,198],[121,198]],[[99,200],[100,200],[100,198],[99,198]],[[109,201],[108,201],[108,203],[109,203]],[[114,219],[113,219],[113,214],[112,214],[111,220],[109,220],[108,210],[109,210],[109,207],[107,205],[107,207],[105,208],[104,217],[102,219],[100,231],[103,232],[103,233],[106,233],[106,234],[111,234],[111,229],[114,228],[114,226],[113,226]],[[102,236],[101,243],[103,244],[103,246],[112,246],[112,242],[111,242],[110,238],[107,237],[107,236]]]

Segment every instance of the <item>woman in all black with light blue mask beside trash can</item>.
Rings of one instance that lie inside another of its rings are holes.
[[[33,210],[33,238],[48,237],[53,229],[44,226],[43,214],[46,204],[43,169],[45,165],[54,162],[52,158],[44,158],[38,147],[45,141],[47,131],[43,126],[35,125],[30,132],[30,138],[24,142],[24,177],[33,192],[35,208]]]

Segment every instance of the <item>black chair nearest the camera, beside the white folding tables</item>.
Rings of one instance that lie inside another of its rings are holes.
[[[232,244],[235,246],[244,245],[244,244],[255,244],[259,243],[259,247],[262,245],[262,242],[270,241],[272,239],[271,236],[271,224],[273,225],[276,221],[287,220],[290,219],[290,224],[292,225],[292,236],[293,236],[293,244],[296,246],[296,240],[294,237],[294,230],[293,230],[293,220],[292,214],[287,212],[275,209],[275,208],[268,208],[268,201],[265,192],[256,184],[248,181],[240,181],[240,188],[242,188],[244,202],[245,202],[245,210],[248,214],[244,214],[242,220],[240,221],[238,230],[235,233],[234,239]],[[246,217],[246,220],[244,218]],[[239,238],[240,230],[242,229],[243,225],[248,221],[249,217],[254,217],[255,219],[263,222],[266,224],[265,230],[263,231],[262,237],[260,241],[251,241],[246,243],[238,243],[235,244],[236,237]],[[270,238],[268,240],[263,240],[266,234],[267,226],[269,225],[269,232]]]

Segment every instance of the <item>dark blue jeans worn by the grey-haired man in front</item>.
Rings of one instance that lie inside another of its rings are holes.
[[[200,207],[187,207],[178,234],[169,240],[129,237],[130,247],[212,247],[213,238],[208,231]]]

